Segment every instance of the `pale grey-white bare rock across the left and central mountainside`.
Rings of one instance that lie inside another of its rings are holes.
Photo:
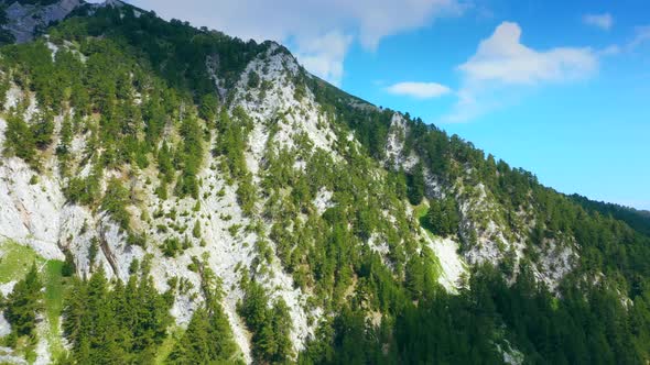
[[[336,141],[334,131],[329,128],[318,128],[316,124],[324,119],[318,112],[319,107],[313,95],[306,93],[301,100],[294,98],[294,86],[290,81],[299,70],[293,57],[283,52],[277,52],[272,45],[266,54],[253,59],[247,67],[249,71],[259,73],[263,81],[272,87],[264,95],[256,95],[254,100],[246,97],[246,78],[236,86],[232,108],[241,107],[254,119],[254,129],[249,137],[246,152],[247,165],[259,181],[259,166],[263,164],[266,150],[269,145],[274,148],[295,147],[295,139],[306,137],[314,146],[332,152],[332,144]],[[262,71],[262,68],[264,71]],[[26,97],[15,87],[9,92],[8,107],[17,100]],[[35,100],[29,111],[37,112]],[[278,122],[279,115],[283,120]],[[26,119],[29,115],[25,115]],[[62,118],[57,118],[61,123]],[[278,128],[272,126],[278,123]],[[6,121],[0,119],[0,144],[4,140]],[[269,130],[275,131],[271,135]],[[61,125],[56,125],[59,130]],[[214,141],[212,141],[214,143]],[[77,146],[75,146],[77,145]],[[83,140],[73,142],[73,151],[83,153]],[[186,324],[194,310],[202,303],[201,278],[187,266],[193,257],[207,257],[210,268],[223,283],[224,309],[230,320],[236,341],[245,354],[247,362],[252,362],[250,335],[236,311],[236,305],[242,299],[239,289],[241,275],[246,267],[252,265],[257,256],[254,251],[259,236],[243,228],[253,224],[251,218],[246,217],[237,199],[237,186],[228,185],[224,176],[214,167],[218,161],[208,151],[205,163],[199,173],[203,180],[198,201],[192,198],[170,198],[161,200],[151,186],[144,184],[151,179],[158,185],[158,177],[153,170],[142,170],[134,179],[134,188],[142,191],[140,197],[144,201],[143,211],[138,215],[150,217],[150,220],[136,218],[136,224],[145,232],[149,242],[163,242],[170,237],[169,232],[161,232],[158,226],[169,223],[162,211],[184,212],[175,221],[181,226],[194,226],[198,222],[201,239],[180,234],[180,240],[192,241],[192,246],[175,257],[166,257],[158,245],[150,244],[147,248],[127,244],[127,235],[102,211],[91,211],[86,207],[67,202],[63,193],[63,178],[58,175],[56,155],[44,162],[44,173],[37,174],[22,159],[17,157],[3,158],[0,163],[0,239],[12,240],[29,245],[36,253],[47,259],[65,258],[64,252],[73,255],[79,275],[90,273],[89,252],[93,242],[98,244],[95,267],[102,266],[109,277],[128,280],[129,266],[133,259],[142,261],[147,254],[152,256],[151,274],[161,291],[169,288],[167,280],[178,278],[193,285],[176,297],[172,314],[180,325]],[[295,166],[300,168],[300,166]],[[85,169],[87,174],[87,169]],[[84,172],[82,173],[84,174]],[[119,173],[106,173],[105,180]],[[220,193],[217,193],[221,191]],[[323,191],[316,204],[325,209],[331,204],[332,192]],[[199,206],[196,210],[194,207]],[[241,229],[235,231],[234,226]],[[202,244],[203,242],[203,244]],[[270,242],[273,248],[273,242]],[[271,298],[282,298],[292,319],[291,340],[294,352],[303,347],[305,341],[314,334],[322,310],[312,308],[306,310],[307,294],[296,288],[290,275],[283,272],[279,259],[272,259],[266,274],[257,279],[269,290]]]

